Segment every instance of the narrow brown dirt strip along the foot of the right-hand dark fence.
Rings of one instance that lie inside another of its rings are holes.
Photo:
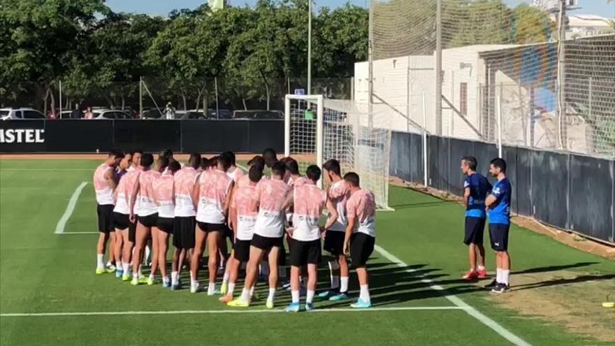
[[[457,201],[462,203],[461,197],[455,196],[453,194],[449,194],[448,192],[442,192],[436,189],[431,189],[429,187],[424,187],[423,185],[417,185],[410,182],[405,182],[399,178],[391,178],[391,184],[400,186],[400,187],[410,187],[418,192],[423,192],[425,194],[430,194],[431,196],[435,196],[439,199],[446,199],[448,201]],[[574,247],[575,249],[590,252],[592,254],[598,254],[598,256],[605,257],[607,259],[611,259],[615,261],[615,246],[609,246],[602,243],[598,243],[595,240],[591,240],[588,238],[584,238],[577,233],[570,233],[566,231],[562,231],[560,229],[556,229],[554,227],[546,226],[541,224],[536,219],[525,216],[513,216],[512,222],[518,226],[524,227],[526,229],[530,229],[537,233],[541,233],[547,235],[555,240],[558,240],[560,243],[564,243],[570,247]],[[615,292],[614,292],[615,294]]]

